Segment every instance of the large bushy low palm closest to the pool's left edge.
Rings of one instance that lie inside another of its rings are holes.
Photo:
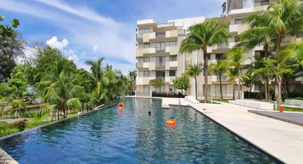
[[[83,90],[83,87],[74,85],[74,79],[67,76],[65,73],[61,73],[58,79],[48,87],[42,90],[43,97],[49,105],[39,109],[36,116],[42,116],[50,110],[58,109],[63,111],[63,117],[67,117],[66,109],[68,107],[80,108],[80,100],[77,96],[79,92]]]

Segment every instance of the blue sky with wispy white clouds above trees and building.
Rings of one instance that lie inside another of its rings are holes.
[[[205,16],[218,17],[222,0],[0,0],[1,23],[20,19],[18,30],[33,45],[44,42],[89,69],[87,59],[105,57],[105,63],[124,74],[135,69],[137,20]],[[31,49],[26,52],[30,55]]]

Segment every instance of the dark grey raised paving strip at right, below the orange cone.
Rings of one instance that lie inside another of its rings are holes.
[[[248,110],[248,112],[263,115],[273,119],[278,119],[292,124],[303,126],[303,113],[301,112],[278,112],[278,111],[260,111],[260,110]]]

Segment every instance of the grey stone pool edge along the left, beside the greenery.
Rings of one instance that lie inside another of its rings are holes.
[[[13,133],[13,134],[10,134],[10,135],[7,135],[7,136],[0,137],[0,140],[7,139],[9,137],[13,137],[13,136],[16,136],[16,135],[20,135],[22,133],[26,133],[26,132],[30,132],[30,131],[35,131],[35,130],[40,129],[42,127],[50,126],[52,124],[55,124],[55,123],[58,123],[58,122],[62,122],[62,121],[68,120],[68,119],[76,118],[76,117],[81,116],[81,115],[87,115],[89,113],[98,111],[100,109],[104,109],[104,108],[107,108],[107,107],[115,105],[115,104],[112,104],[111,102],[114,102],[116,100],[117,99],[115,99],[113,101],[110,101],[110,102],[107,102],[107,103],[104,103],[104,105],[101,108],[98,108],[98,109],[95,109],[96,108],[95,107],[95,108],[93,108],[94,110],[91,110],[91,111],[88,111],[88,112],[85,112],[85,113],[82,113],[82,114],[74,115],[72,117],[68,117],[68,118],[65,118],[65,119],[53,121],[53,122],[50,122],[50,123],[47,123],[47,124],[44,124],[44,125],[36,126],[34,128],[31,128],[31,129],[26,129],[26,130],[21,131],[21,132],[17,132],[17,133]],[[18,164],[18,162],[14,158],[12,158],[12,156],[10,156],[7,152],[5,152],[1,147],[0,147],[0,153],[3,153],[5,155],[5,158],[7,160],[5,162],[9,162],[10,164]],[[2,160],[2,159],[0,159],[0,160]]]

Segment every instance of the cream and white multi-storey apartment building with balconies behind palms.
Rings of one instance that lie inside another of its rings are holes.
[[[266,10],[269,3],[277,3],[277,0],[223,0],[221,11],[222,14],[218,17],[218,21],[228,24],[231,38],[228,43],[222,43],[208,47],[208,63],[215,63],[217,60],[223,59],[223,55],[230,51],[236,44],[235,38],[244,32],[249,27],[247,24],[242,24],[243,18],[255,11]],[[204,17],[185,18],[169,20],[168,23],[157,24],[153,19],[141,20],[137,22],[137,95],[150,95],[150,90],[154,90],[148,85],[150,79],[163,78],[165,86],[158,89],[158,92],[179,92],[172,85],[171,79],[175,76],[180,76],[185,72],[189,64],[203,63],[203,52],[195,51],[192,53],[178,52],[182,40],[185,38],[186,29],[196,23],[204,22]],[[296,36],[285,38],[282,41],[283,45],[287,45],[292,41],[301,41],[303,33],[300,32]],[[262,46],[256,46],[254,49],[248,50],[245,55],[254,58],[262,55]],[[243,67],[250,64],[251,61],[243,63]],[[242,73],[246,70],[242,69]],[[231,98],[233,89],[231,82],[227,81],[225,75],[221,76],[222,93],[225,98]],[[187,95],[195,95],[195,82],[191,79],[191,88],[188,89]],[[238,80],[235,81],[235,95],[237,95]],[[272,83],[273,85],[274,83]],[[289,81],[289,91],[297,89],[303,92],[303,79],[291,79]],[[197,92],[198,97],[203,97],[205,94],[204,77],[197,77]],[[254,91],[258,91],[260,86],[255,84]],[[249,90],[244,85],[241,85],[242,92]],[[220,97],[220,85],[218,75],[208,75],[208,91],[207,94],[211,97]]]

